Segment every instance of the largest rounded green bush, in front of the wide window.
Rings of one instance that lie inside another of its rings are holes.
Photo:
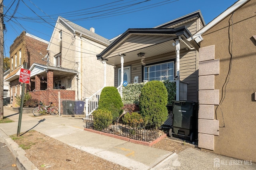
[[[167,90],[163,82],[150,81],[141,89],[140,114],[147,123],[160,127],[168,117]]]

